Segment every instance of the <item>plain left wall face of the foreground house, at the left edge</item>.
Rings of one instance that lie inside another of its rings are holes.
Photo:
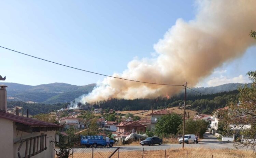
[[[0,118],[0,157],[11,158],[13,153],[13,122]]]

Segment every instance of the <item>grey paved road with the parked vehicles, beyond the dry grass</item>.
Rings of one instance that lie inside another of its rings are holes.
[[[98,151],[114,151],[118,146],[113,146],[112,148],[97,148]],[[165,150],[170,148],[181,148],[182,144],[162,144],[162,145],[122,145],[120,147],[120,152],[123,151],[133,151],[133,150]],[[204,148],[212,148],[212,149],[220,149],[220,148],[231,148],[233,147],[232,142],[222,142],[219,141],[215,136],[205,134],[204,139],[200,140],[198,144],[185,144],[185,147],[204,147]],[[91,148],[74,148],[74,152],[87,152],[91,151]]]

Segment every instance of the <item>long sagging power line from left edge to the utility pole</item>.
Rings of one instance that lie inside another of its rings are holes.
[[[22,53],[22,52],[19,52],[19,51],[16,51],[16,50],[12,50],[12,49],[9,49],[9,48],[6,48],[6,47],[2,47],[2,46],[0,46],[0,47],[4,48],[4,49],[7,49],[7,50],[11,50],[11,51],[17,52],[17,53],[20,53],[20,54],[23,54],[23,55],[26,55],[26,56],[29,56],[29,57],[37,58],[37,59],[40,59],[40,60],[43,60],[43,61],[47,61],[47,62],[50,62],[50,63],[54,63],[54,64],[57,64],[57,65],[66,66],[66,67],[69,67],[69,68],[73,68],[73,69],[77,69],[77,70],[81,70],[81,71],[84,71],[84,72],[87,72],[87,73],[97,74],[97,75],[101,75],[101,76],[112,77],[112,78],[117,78],[117,79],[121,79],[121,80],[133,81],[133,82],[148,83],[148,84],[170,85],[170,86],[184,86],[184,85],[177,85],[177,84],[162,84],[162,83],[153,83],[153,82],[143,82],[143,81],[130,80],[130,79],[125,79],[125,78],[120,78],[120,77],[114,77],[114,76],[99,74],[99,73],[87,71],[87,70],[84,70],[84,69],[75,68],[75,67],[72,67],[72,66],[56,63],[56,62],[49,61],[49,60],[46,60],[46,59],[38,58],[38,57],[35,57],[35,56],[31,56],[29,54]]]

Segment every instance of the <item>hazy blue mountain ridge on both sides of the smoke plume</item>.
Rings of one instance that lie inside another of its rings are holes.
[[[95,83],[88,85],[72,85],[60,82],[40,84],[34,86],[12,82],[0,82],[0,84],[5,84],[9,87],[7,89],[8,101],[32,101],[44,104],[70,102],[83,94],[90,93],[96,86]],[[214,94],[219,92],[236,90],[240,85],[244,86],[245,84],[227,83],[213,87],[199,87],[193,89],[202,94]],[[195,95],[198,94],[189,89],[188,93]]]

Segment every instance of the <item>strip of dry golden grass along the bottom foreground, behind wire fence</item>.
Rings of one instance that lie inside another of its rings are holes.
[[[109,157],[114,150],[110,152],[94,152],[94,158]],[[167,158],[255,158],[255,154],[251,151],[234,151],[231,149],[206,149],[206,148],[184,148],[184,149],[167,149]],[[74,158],[91,158],[92,153],[74,153]],[[116,152],[112,158],[117,158],[118,152]],[[127,151],[120,152],[120,158],[141,158],[142,151]],[[165,151],[144,151],[143,158],[164,158]]]

